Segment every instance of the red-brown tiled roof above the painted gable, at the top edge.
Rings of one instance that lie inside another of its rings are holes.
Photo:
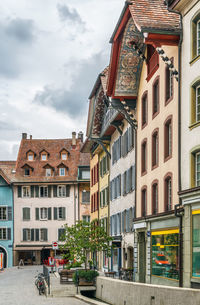
[[[164,0],[132,0],[129,9],[139,30],[176,31],[181,29],[179,14],[169,12]]]

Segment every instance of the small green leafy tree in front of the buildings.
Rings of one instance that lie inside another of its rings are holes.
[[[65,243],[60,248],[68,250],[65,258],[76,259],[84,263],[85,268],[87,266],[87,254],[89,253],[105,251],[107,256],[111,256],[112,237],[107,235],[103,227],[97,225],[96,220],[90,223],[79,221],[71,227],[66,224],[62,241]]]

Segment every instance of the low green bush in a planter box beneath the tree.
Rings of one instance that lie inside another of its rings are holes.
[[[79,286],[92,286],[98,275],[96,270],[77,270],[73,275],[73,281]]]

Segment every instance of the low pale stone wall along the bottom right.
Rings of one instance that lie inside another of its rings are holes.
[[[96,297],[112,305],[199,305],[200,290],[98,277]]]

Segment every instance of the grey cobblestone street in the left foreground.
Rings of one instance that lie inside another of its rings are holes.
[[[84,305],[75,298],[46,298],[35,287],[35,276],[42,272],[41,266],[23,269],[9,268],[0,272],[0,305]]]

